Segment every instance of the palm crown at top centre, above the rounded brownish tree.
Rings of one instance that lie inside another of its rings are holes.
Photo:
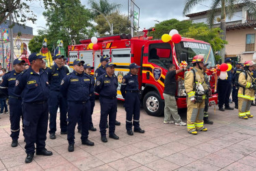
[[[90,4],[91,8],[98,10],[105,15],[111,14],[122,6],[118,3],[109,3],[107,0],[99,0],[99,3],[97,3],[95,0],[89,0],[88,3]],[[95,12],[96,16],[100,15],[99,12]]]

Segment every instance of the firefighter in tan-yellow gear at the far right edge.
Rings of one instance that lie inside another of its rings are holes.
[[[244,71],[240,73],[238,83],[240,88],[238,90],[238,116],[242,119],[253,118],[251,115],[251,103],[255,98],[256,85],[253,78],[253,69],[255,62],[244,62]]]

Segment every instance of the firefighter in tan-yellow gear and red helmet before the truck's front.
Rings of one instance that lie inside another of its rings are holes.
[[[196,55],[192,60],[193,69],[185,75],[185,91],[187,92],[187,127],[188,133],[207,131],[203,126],[203,109],[205,107],[205,90],[208,86],[203,75],[203,56]]]

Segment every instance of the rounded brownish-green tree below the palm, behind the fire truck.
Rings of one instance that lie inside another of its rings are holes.
[[[107,19],[114,25],[113,34],[129,34],[130,23],[127,22],[127,16],[116,11],[107,16]],[[106,32],[110,34],[110,26],[107,24],[107,21],[102,15],[97,16],[95,18],[95,22],[97,23],[95,29],[100,36],[105,36]]]

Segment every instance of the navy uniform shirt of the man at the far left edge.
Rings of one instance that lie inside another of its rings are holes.
[[[12,70],[5,75],[3,75],[3,82],[1,83],[1,91],[3,91],[5,94],[8,94],[9,96],[16,96],[20,97],[17,94],[14,94],[14,87],[16,83],[16,78],[18,77],[20,73],[16,73],[15,70]]]

